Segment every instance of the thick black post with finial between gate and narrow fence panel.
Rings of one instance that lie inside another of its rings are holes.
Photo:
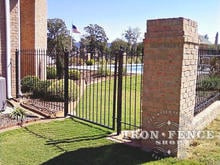
[[[121,133],[123,53],[123,48],[120,47],[118,61],[117,135]]]

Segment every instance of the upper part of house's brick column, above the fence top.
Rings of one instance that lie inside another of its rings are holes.
[[[47,48],[46,0],[20,0],[22,49]]]

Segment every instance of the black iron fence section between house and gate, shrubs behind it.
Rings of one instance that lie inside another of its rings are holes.
[[[16,51],[17,96],[23,97],[23,106],[48,118],[63,113],[63,56],[64,52],[46,50]]]

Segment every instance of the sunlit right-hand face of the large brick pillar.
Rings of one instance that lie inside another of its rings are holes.
[[[198,31],[197,23],[183,21],[184,45],[180,93],[179,130],[191,131],[196,98],[196,79],[198,63]],[[184,157],[190,140],[181,140],[178,145],[178,157]]]

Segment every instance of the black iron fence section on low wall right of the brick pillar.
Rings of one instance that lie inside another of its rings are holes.
[[[220,51],[200,49],[196,82],[196,105],[194,115],[219,99]]]

